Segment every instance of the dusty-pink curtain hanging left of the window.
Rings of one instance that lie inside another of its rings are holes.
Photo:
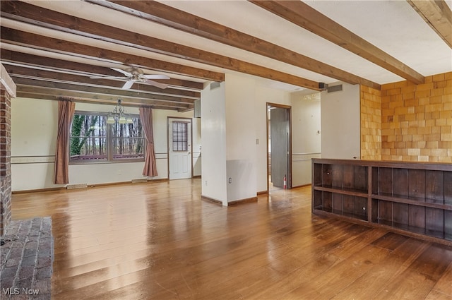
[[[55,184],[69,184],[69,131],[75,110],[76,104],[74,102],[59,100]]]

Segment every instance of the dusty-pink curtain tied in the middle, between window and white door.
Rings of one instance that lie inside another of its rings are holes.
[[[154,133],[153,133],[153,110],[150,107],[140,107],[140,119],[148,142],[145,151],[145,162],[143,175],[157,176],[157,166],[155,165]]]

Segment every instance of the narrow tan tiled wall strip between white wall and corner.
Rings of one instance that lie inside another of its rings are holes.
[[[381,92],[361,85],[361,159],[381,160]]]

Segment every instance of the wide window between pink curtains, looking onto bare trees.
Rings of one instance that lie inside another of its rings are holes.
[[[140,117],[132,123],[107,124],[107,115],[76,112],[70,133],[70,161],[112,162],[144,160],[145,138]]]

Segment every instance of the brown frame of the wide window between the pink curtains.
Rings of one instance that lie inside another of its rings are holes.
[[[93,112],[93,111],[76,111],[74,112],[74,116],[76,114],[84,114],[84,115],[89,115],[89,116],[105,116],[107,118],[108,113],[107,112]],[[139,114],[128,114],[129,116],[132,117],[132,119],[139,119],[140,115]],[[105,136],[105,139],[107,140],[107,146],[106,146],[106,152],[107,152],[107,160],[71,160],[71,147],[70,147],[70,143],[71,143],[71,130],[72,130],[72,123],[71,123],[71,128],[69,129],[69,164],[117,164],[117,163],[126,163],[126,162],[144,162],[145,161],[145,149],[147,146],[147,141],[145,138],[145,133],[144,133],[144,129],[143,131],[143,157],[134,157],[134,158],[114,158],[114,153],[113,153],[113,139],[114,138],[118,138],[117,136],[114,136],[113,134],[113,126],[114,124],[107,124],[105,123],[106,126],[106,133],[107,136]],[[143,124],[141,124],[141,126],[143,127]],[[102,137],[103,138],[103,137]]]

